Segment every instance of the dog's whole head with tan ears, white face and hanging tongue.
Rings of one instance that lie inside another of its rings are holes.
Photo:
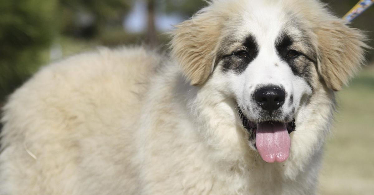
[[[288,158],[295,115],[316,88],[340,90],[364,60],[364,35],[315,0],[214,0],[173,35],[191,85],[215,79],[267,162]]]

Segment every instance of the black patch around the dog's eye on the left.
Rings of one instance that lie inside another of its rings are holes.
[[[259,47],[254,36],[249,35],[247,38],[245,38],[243,47],[248,53],[247,57],[243,58],[236,55],[237,52],[242,50],[235,51],[230,55],[224,56],[222,65],[223,72],[234,71],[236,74],[241,74],[245,71],[249,63],[251,63],[257,57]]]

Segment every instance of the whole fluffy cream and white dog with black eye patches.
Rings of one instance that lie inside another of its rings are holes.
[[[170,55],[53,63],[4,107],[0,194],[315,194],[364,40],[317,0],[212,0]]]

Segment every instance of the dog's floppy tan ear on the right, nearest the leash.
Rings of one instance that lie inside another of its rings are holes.
[[[346,21],[332,18],[320,23],[318,69],[328,88],[340,91],[365,62],[365,35]]]

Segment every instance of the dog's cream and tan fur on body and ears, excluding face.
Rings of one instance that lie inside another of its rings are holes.
[[[170,59],[101,48],[44,67],[4,107],[0,194],[314,194],[333,90],[361,64],[364,37],[318,1],[282,1],[309,29],[319,73],[289,159],[265,163],[212,68],[225,21],[258,2],[212,1],[174,31]]]

